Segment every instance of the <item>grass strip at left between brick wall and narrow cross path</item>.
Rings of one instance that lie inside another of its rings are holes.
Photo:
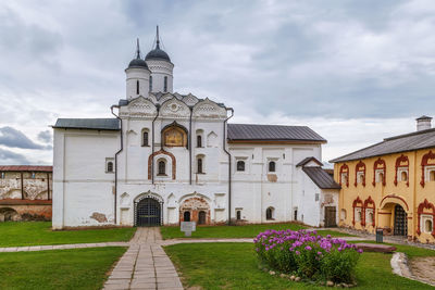
[[[51,222],[0,223],[0,247],[128,241],[136,228],[51,230]]]

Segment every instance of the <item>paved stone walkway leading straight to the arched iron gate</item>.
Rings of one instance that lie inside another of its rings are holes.
[[[158,227],[138,228],[103,289],[183,289],[161,242]]]

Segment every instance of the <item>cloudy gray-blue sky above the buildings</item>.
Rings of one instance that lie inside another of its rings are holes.
[[[435,1],[1,1],[0,164],[51,164],[58,117],[111,117],[156,25],[174,90],[309,125],[327,161],[435,116]]]

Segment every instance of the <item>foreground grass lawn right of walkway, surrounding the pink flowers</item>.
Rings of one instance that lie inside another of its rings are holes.
[[[271,276],[258,268],[252,243],[196,243],[165,247],[185,286],[203,289],[326,289]],[[402,250],[402,249],[400,249]],[[413,251],[403,249],[405,252]],[[420,249],[419,249],[420,250]],[[421,249],[422,250],[422,249]],[[430,251],[430,250],[423,250]],[[420,252],[419,254],[431,254]],[[391,254],[363,253],[357,267],[357,289],[433,289],[391,273]]]

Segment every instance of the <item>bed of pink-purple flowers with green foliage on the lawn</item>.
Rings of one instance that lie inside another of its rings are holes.
[[[310,280],[353,282],[361,250],[315,230],[266,230],[253,240],[261,263]]]

